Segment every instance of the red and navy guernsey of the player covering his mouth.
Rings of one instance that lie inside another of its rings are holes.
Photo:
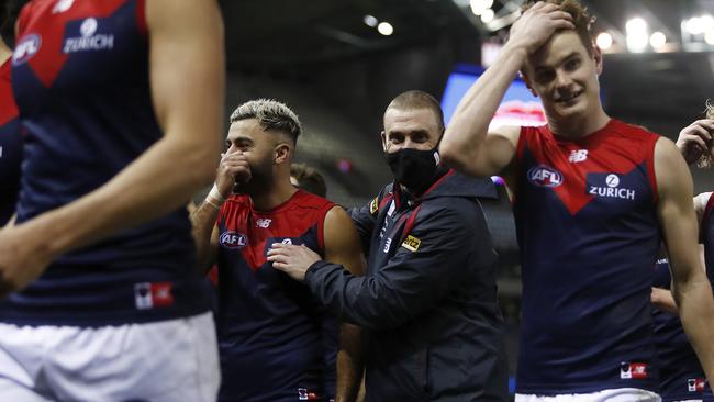
[[[334,320],[306,286],[266,260],[272,243],[303,244],[324,256],[323,224],[333,206],[298,190],[270,211],[256,211],[247,196],[221,209],[220,401],[327,401],[334,392]]]

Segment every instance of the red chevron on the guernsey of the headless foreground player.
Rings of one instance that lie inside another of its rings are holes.
[[[19,35],[13,64],[18,66],[29,63],[40,81],[46,88],[52,87],[72,49],[112,47],[111,33],[102,33],[102,19],[110,16],[124,4],[124,0],[56,0],[27,4],[18,21]],[[137,18],[143,18],[143,13],[142,1],[137,7]],[[52,18],[48,18],[49,15]],[[140,26],[145,26],[141,20]],[[63,34],[58,35],[59,32]]]

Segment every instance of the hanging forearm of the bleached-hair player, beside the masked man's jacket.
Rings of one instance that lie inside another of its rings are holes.
[[[335,401],[356,401],[361,383],[362,366],[361,328],[344,323],[339,331]]]

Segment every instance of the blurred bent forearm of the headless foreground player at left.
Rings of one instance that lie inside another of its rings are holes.
[[[213,180],[217,150],[217,136],[164,137],[105,185],[27,224],[56,256],[165,215]]]

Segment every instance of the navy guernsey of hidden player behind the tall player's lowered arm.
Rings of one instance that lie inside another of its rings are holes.
[[[709,269],[707,269],[709,272]],[[652,286],[669,289],[672,277],[666,258],[655,265]],[[659,357],[660,392],[662,402],[703,400],[714,397],[706,383],[704,369],[684,334],[677,314],[652,308],[655,339]]]

